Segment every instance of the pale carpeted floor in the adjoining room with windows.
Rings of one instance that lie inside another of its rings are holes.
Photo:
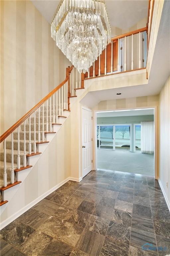
[[[97,149],[97,168],[154,176],[154,154]]]

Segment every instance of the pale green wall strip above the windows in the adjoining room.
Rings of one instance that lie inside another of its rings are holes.
[[[154,115],[97,117],[97,124],[132,124],[140,123],[142,121],[154,121]]]

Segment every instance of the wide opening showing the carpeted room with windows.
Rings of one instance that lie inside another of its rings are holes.
[[[97,112],[97,169],[154,176],[154,109]]]

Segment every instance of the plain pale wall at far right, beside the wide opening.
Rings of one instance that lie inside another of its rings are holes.
[[[159,101],[159,179],[170,205],[170,76]]]

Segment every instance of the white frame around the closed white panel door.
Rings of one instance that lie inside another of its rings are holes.
[[[82,146],[83,146],[83,109],[90,111],[91,115],[92,115],[92,120],[91,120],[91,125],[92,125],[92,142],[91,142],[91,158],[93,161],[93,148],[94,148],[94,137],[93,137],[93,110],[91,110],[90,108],[86,108],[86,107],[81,107],[81,177],[83,177],[83,154],[82,154]],[[93,170],[93,165],[94,165],[94,161],[91,163],[91,167]]]

